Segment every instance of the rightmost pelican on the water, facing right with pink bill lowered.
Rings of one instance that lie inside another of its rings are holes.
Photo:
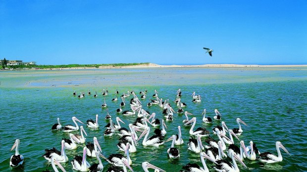
[[[273,155],[270,152],[263,152],[263,153],[259,154],[259,156],[260,156],[259,160],[261,162],[264,162],[264,163],[277,163],[277,162],[281,162],[282,161],[282,156],[281,156],[281,153],[280,153],[280,150],[279,150],[280,147],[282,149],[284,149],[284,151],[286,151],[289,155],[291,155],[288,152],[288,150],[281,144],[280,141],[276,141],[276,150],[277,150],[278,157]]]

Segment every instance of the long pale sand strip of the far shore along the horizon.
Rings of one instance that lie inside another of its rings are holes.
[[[130,68],[300,68],[307,65],[237,65],[237,64],[206,64],[206,65],[158,65],[153,63],[127,66],[73,67],[47,69],[14,69],[14,70],[76,70],[76,69],[130,69]],[[3,71],[3,70],[2,70]]]

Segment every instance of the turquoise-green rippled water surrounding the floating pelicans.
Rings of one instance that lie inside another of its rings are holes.
[[[265,165],[258,161],[245,160],[249,169],[243,172],[303,172],[307,171],[307,69],[306,68],[274,68],[274,69],[218,69],[218,68],[184,68],[184,69],[89,69],[62,71],[4,71],[0,72],[1,95],[1,128],[0,128],[0,171],[1,172],[34,172],[50,169],[51,166],[42,157],[44,149],[56,147],[60,149],[61,138],[68,134],[51,132],[51,126],[56,118],[61,119],[62,125],[73,124],[72,116],[83,122],[100,115],[100,129],[91,130],[84,127],[88,133],[87,141],[97,137],[102,153],[109,155],[118,153],[116,146],[119,136],[103,137],[103,126],[106,124],[105,109],[101,108],[102,89],[108,89],[106,103],[112,119],[119,116],[125,123],[133,122],[136,116],[122,116],[115,113],[118,102],[111,102],[115,90],[120,95],[127,90],[139,93],[141,89],[148,90],[150,98],[154,89],[159,98],[176,99],[176,91],[181,88],[182,102],[187,103],[187,110],[197,117],[196,127],[205,127],[209,131],[220,122],[205,124],[202,122],[202,111],[207,109],[207,116],[213,117],[217,108],[223,115],[228,128],[237,128],[235,119],[240,117],[248,126],[243,126],[243,134],[239,138],[248,143],[253,140],[260,152],[270,151],[277,154],[275,142],[281,141],[291,153],[291,156],[281,150],[283,161]],[[85,96],[83,99],[73,97],[74,90],[90,89],[92,94],[97,91],[98,98]],[[193,103],[191,94],[202,95],[201,103]],[[128,99],[126,99],[128,100]],[[141,100],[144,105],[148,99]],[[172,103],[175,111],[177,107]],[[123,108],[128,109],[129,106]],[[145,106],[157,118],[162,118],[162,109],[158,106]],[[174,115],[173,122],[167,122],[166,138],[177,134],[177,126],[182,126],[184,115]],[[160,147],[137,146],[137,152],[131,153],[132,168],[142,172],[141,163],[149,161],[167,172],[179,172],[183,165],[197,162],[199,154],[187,150],[190,128],[182,127],[185,144],[176,146],[180,151],[179,160],[167,158],[167,149],[171,142]],[[152,135],[152,134],[151,134]],[[150,136],[151,136],[150,135]],[[215,138],[215,136],[213,136]],[[16,138],[20,139],[20,153],[25,157],[24,165],[20,168],[9,167],[9,159],[14,151],[9,151]],[[205,138],[202,138],[203,143]],[[238,140],[236,140],[238,143]],[[82,146],[76,150],[67,150],[70,160],[74,155],[81,155]],[[88,161],[97,163],[96,158]],[[103,161],[104,169],[109,165]],[[210,171],[214,171],[212,163],[207,163]],[[73,172],[72,165],[63,164],[67,172]]]

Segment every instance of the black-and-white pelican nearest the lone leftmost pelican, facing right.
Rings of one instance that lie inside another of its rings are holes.
[[[54,159],[56,159],[60,163],[68,162],[68,157],[66,156],[65,149],[64,149],[64,143],[65,141],[62,140],[61,141],[61,151],[58,151],[54,147],[52,147],[52,149],[45,149],[46,152],[43,155],[43,157],[49,162],[51,162],[52,156],[54,157]]]

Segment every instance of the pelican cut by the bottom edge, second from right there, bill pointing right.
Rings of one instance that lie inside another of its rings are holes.
[[[182,170],[180,172],[209,172],[209,169],[207,168],[206,164],[205,164],[205,158],[212,161],[213,163],[214,160],[212,160],[207,154],[205,154],[205,152],[201,152],[201,162],[203,164],[203,167],[200,167],[199,165],[193,163],[188,163],[187,165],[182,167]]]

